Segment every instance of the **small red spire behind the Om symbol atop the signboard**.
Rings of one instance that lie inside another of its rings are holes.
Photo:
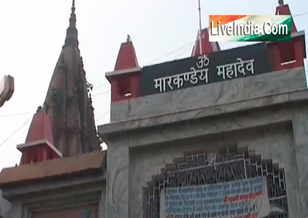
[[[205,28],[201,31],[201,41],[202,41],[203,54],[210,54],[212,52],[221,50],[218,42],[208,41],[208,28]],[[199,55],[200,55],[200,41],[199,41],[199,33],[198,33],[196,43],[194,47],[192,48],[191,57],[196,57]]]

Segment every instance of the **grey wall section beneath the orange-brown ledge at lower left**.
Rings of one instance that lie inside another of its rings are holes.
[[[81,184],[81,180],[69,178],[7,188],[3,196],[8,196],[11,203],[0,199],[0,215],[3,218],[105,218],[105,182],[89,182],[93,177],[86,177],[86,183]]]

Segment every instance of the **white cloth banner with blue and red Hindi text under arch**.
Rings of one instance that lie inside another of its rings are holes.
[[[160,218],[264,218],[266,177],[161,190]]]

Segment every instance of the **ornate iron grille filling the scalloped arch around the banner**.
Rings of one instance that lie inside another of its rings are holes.
[[[284,169],[272,160],[261,160],[254,152],[206,156],[205,152],[174,160],[152,176],[143,189],[143,218],[159,218],[160,191],[167,187],[187,187],[266,176],[271,213],[268,218],[288,218],[288,201]]]

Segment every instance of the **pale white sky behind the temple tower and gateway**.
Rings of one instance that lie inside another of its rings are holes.
[[[208,15],[274,15],[277,5],[277,0],[201,1],[203,28]],[[285,3],[292,15],[308,12],[307,0]],[[198,31],[198,0],[76,0],[75,5],[86,78],[94,85],[96,125],[109,122],[110,85],[104,73],[114,69],[127,34],[140,66],[190,56]],[[24,143],[32,116],[45,100],[70,7],[71,0],[0,0],[0,78],[15,78],[15,93],[0,108],[0,169],[19,163],[16,145]],[[308,14],[294,17],[297,29],[306,34],[307,20]],[[220,45],[226,49],[245,43]],[[17,113],[26,114],[12,116]]]

